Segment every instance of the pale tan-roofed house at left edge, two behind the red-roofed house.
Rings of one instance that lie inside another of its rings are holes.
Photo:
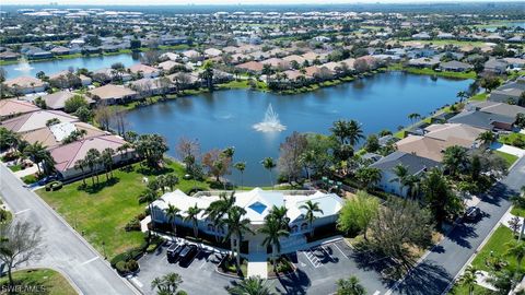
[[[1,122],[1,127],[13,132],[24,133],[44,128],[50,120],[58,120],[59,122],[75,122],[79,119],[60,110],[42,109],[4,120]]]

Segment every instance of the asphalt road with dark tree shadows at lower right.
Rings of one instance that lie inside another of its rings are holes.
[[[478,206],[483,219],[476,224],[457,225],[393,293],[442,294],[509,210],[512,204],[509,198],[516,196],[522,186],[525,186],[525,157],[489,193],[481,196]]]

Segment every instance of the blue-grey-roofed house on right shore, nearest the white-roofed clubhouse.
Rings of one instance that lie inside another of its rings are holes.
[[[406,167],[408,174],[412,176],[421,176],[429,169],[441,167],[441,164],[436,161],[401,151],[396,151],[370,165],[370,167],[381,170],[381,180],[376,185],[377,188],[404,198],[406,198],[410,191],[408,187],[400,184],[400,180],[394,173],[395,167],[398,165]]]

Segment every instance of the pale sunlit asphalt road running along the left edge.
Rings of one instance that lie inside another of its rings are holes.
[[[3,164],[0,164],[0,193],[15,219],[42,225],[43,257],[30,267],[47,267],[66,273],[83,294],[138,294]]]

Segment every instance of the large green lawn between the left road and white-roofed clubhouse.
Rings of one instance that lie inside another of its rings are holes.
[[[168,162],[165,172],[174,172],[180,179],[177,188],[188,191],[194,187],[208,189],[208,185],[196,180],[184,180],[184,167],[175,162]],[[82,180],[66,185],[58,191],[40,189],[37,193],[68,223],[103,253],[103,241],[107,257],[137,247],[143,241],[140,232],[126,232],[125,225],[147,204],[139,204],[138,197],[144,190],[142,177],[152,178],[148,169],[140,169],[139,164],[132,165],[132,170],[115,170],[115,181],[106,184],[101,175],[100,186],[92,188],[91,179],[86,179],[88,188],[82,188]]]

